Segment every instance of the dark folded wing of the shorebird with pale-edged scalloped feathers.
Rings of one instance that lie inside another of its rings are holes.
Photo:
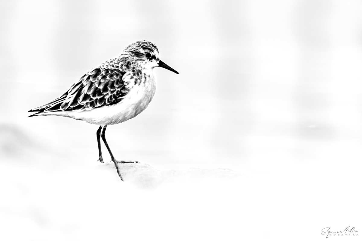
[[[59,98],[30,111],[79,111],[116,104],[128,92],[123,81],[125,74],[117,69],[93,69]]]

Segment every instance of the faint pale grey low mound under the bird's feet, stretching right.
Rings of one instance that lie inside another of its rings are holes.
[[[151,189],[166,183],[233,179],[240,176],[240,173],[228,168],[189,168],[159,171],[145,163],[118,163],[118,166],[125,182],[130,182],[139,188]],[[108,168],[113,175],[117,175],[114,163],[105,163],[99,167]]]

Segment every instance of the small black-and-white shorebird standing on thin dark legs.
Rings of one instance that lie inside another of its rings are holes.
[[[111,162],[123,181],[117,163],[137,163],[117,161],[106,141],[108,125],[115,125],[134,118],[150,104],[156,91],[155,67],[165,68],[179,74],[160,60],[155,44],[140,40],[131,43],[121,55],[105,61],[97,68],[84,74],[78,82],[59,98],[31,109],[33,116],[64,116],[99,125],[96,132],[98,161],[104,163],[101,138]]]

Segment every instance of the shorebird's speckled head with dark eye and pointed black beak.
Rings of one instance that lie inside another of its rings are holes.
[[[141,40],[130,44],[123,50],[123,55],[126,55],[132,62],[143,66],[146,69],[162,67],[178,74],[176,70],[163,63],[160,60],[160,55],[155,44]]]

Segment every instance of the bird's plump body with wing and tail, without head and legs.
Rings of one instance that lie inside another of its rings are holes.
[[[92,124],[117,124],[142,112],[155,90],[152,70],[134,68],[125,59],[115,58],[90,70],[59,98],[30,111],[38,112],[31,116],[59,115]]]

